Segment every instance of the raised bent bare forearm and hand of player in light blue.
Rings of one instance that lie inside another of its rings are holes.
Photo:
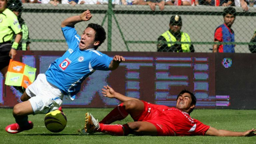
[[[74,27],[75,24],[82,21],[89,21],[92,18],[92,14],[89,10],[84,11],[79,16],[72,16],[61,22],[61,27]]]

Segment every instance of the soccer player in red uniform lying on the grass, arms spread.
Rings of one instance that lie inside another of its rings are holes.
[[[150,136],[255,136],[254,129],[245,132],[218,130],[193,119],[189,114],[196,105],[193,93],[183,90],[177,96],[175,107],[157,105],[115,92],[110,86],[102,88],[104,96],[116,98],[123,103],[115,107],[102,121],[98,122],[89,112],[86,113],[85,128],[82,132],[103,132],[111,135],[125,136],[128,134]],[[122,120],[128,114],[134,122],[111,125]]]

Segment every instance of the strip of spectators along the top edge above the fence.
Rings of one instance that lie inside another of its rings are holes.
[[[22,3],[42,3],[52,4],[108,4],[108,0],[21,0]],[[183,6],[237,6],[242,7],[244,11],[248,11],[248,7],[256,7],[256,0],[112,0],[112,4],[116,5],[149,5],[152,10],[159,6],[160,10],[165,5],[183,5]]]

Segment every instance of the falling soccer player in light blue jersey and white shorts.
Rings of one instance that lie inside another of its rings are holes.
[[[8,133],[32,129],[33,123],[28,121],[28,115],[58,109],[64,95],[69,95],[74,100],[83,80],[95,70],[115,70],[119,63],[125,61],[122,56],[110,58],[96,50],[106,39],[106,32],[100,25],[90,23],[81,36],[77,34],[74,25],[91,18],[91,12],[86,10],[61,23],[68,50],[45,73],[38,74],[36,80],[27,87],[21,96],[23,102],[13,107],[16,123],[5,128]]]

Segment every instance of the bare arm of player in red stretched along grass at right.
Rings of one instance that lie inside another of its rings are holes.
[[[256,136],[255,131],[256,130],[251,129],[245,132],[235,132],[223,129],[218,130],[214,127],[210,127],[205,134],[209,136]]]

